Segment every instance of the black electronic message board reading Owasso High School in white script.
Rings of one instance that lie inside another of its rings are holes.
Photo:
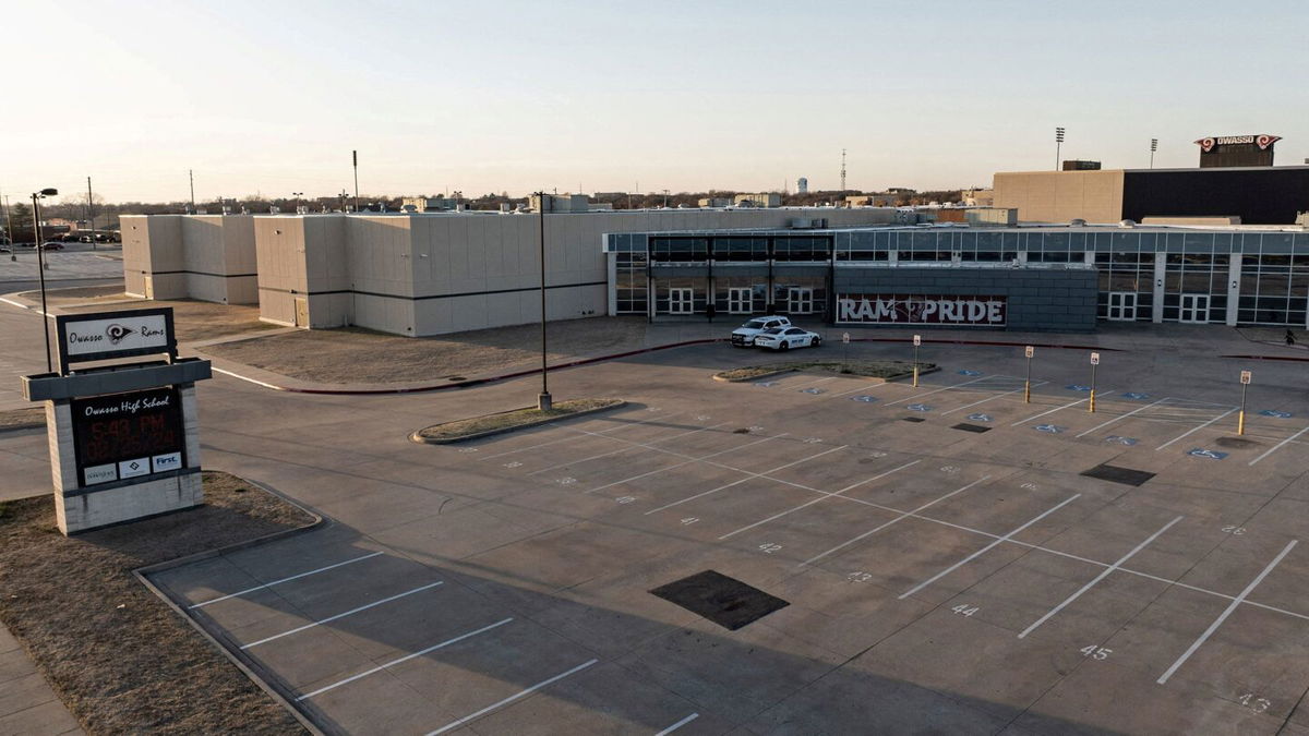
[[[76,398],[69,403],[82,486],[186,465],[182,402],[175,388]]]

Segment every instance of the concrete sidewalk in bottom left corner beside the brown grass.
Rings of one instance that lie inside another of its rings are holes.
[[[0,736],[84,733],[18,640],[0,626]]]

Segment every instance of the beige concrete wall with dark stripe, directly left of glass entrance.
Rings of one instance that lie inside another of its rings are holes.
[[[894,221],[891,210],[657,210],[546,215],[547,317],[607,309],[605,233],[780,228]],[[254,217],[263,320],[295,323],[308,299],[310,326],[359,325],[432,335],[541,318],[537,215],[274,215]],[[308,295],[308,296],[306,296]]]

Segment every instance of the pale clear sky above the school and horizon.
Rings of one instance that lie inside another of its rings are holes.
[[[1309,3],[7,3],[0,193],[918,190],[1309,158]]]

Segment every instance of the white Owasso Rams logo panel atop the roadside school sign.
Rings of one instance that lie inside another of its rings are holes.
[[[166,352],[177,355],[173,308],[60,314],[59,372],[72,363]]]

